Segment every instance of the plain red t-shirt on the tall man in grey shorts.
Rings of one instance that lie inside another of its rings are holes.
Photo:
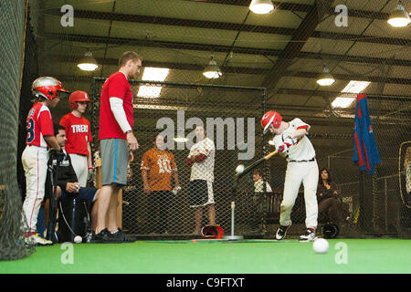
[[[132,127],[134,123],[132,116],[132,88],[125,75],[121,72],[111,74],[101,89],[99,140],[126,140],[127,135],[121,130],[111,111],[110,98],[122,99],[122,107],[124,108],[127,121]]]

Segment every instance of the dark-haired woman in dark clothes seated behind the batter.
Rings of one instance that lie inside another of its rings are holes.
[[[317,187],[318,213],[326,214],[332,224],[342,224],[349,219],[349,214],[344,208],[341,195],[338,193],[337,186],[332,182],[330,171],[322,168],[320,180]]]

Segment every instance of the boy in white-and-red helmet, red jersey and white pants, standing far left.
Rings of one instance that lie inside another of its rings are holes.
[[[60,100],[59,92],[63,89],[56,78],[37,78],[32,85],[34,106],[28,111],[26,149],[22,153],[22,163],[26,174],[26,199],[23,214],[26,221],[26,243],[51,245],[52,242],[36,234],[37,214],[45,195],[47,177],[48,148],[61,151],[54,136],[53,120],[50,110]]]

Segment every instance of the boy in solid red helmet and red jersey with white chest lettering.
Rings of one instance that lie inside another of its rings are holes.
[[[93,169],[90,122],[83,117],[89,102],[90,98],[86,91],[74,91],[68,99],[71,112],[60,120],[60,125],[66,129],[66,151],[70,155],[80,187],[86,187],[89,171],[92,172]]]

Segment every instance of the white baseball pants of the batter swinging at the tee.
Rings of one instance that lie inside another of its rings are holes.
[[[289,162],[284,183],[284,193],[280,205],[279,224],[290,225],[291,210],[299,194],[301,183],[304,186],[307,228],[317,228],[318,203],[317,185],[319,170],[317,162]]]

